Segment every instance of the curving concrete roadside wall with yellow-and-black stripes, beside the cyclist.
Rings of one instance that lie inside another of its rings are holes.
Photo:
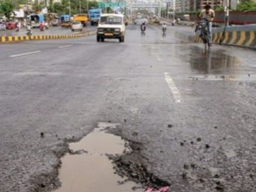
[[[194,42],[202,42],[199,36]],[[213,43],[256,49],[256,25],[229,26],[213,29]]]

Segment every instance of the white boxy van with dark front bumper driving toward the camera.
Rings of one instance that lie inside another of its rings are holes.
[[[119,39],[124,42],[125,24],[122,14],[103,14],[97,29],[97,42],[104,39]]]

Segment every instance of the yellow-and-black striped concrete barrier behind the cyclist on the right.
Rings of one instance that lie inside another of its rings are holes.
[[[194,42],[202,42],[199,36],[194,37]],[[240,46],[256,49],[256,31],[231,31],[213,33],[213,43],[231,46]]]

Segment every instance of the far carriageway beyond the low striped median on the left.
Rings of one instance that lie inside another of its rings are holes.
[[[94,30],[95,26],[84,27],[84,30]],[[38,28],[32,29],[34,35],[50,35],[50,34],[75,34],[80,33],[80,31],[71,31],[70,28],[66,27],[50,27],[48,30],[40,31]],[[15,32],[15,30],[0,31],[1,36],[16,36],[16,35],[26,35],[26,29],[21,28],[20,32]]]

